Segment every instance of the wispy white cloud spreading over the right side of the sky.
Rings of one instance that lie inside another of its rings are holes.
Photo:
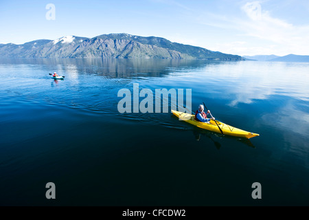
[[[201,46],[239,55],[308,55],[309,25],[297,25],[274,17],[263,7],[263,2],[245,2],[238,9],[233,8],[235,12],[232,10],[225,14],[196,13],[198,23],[211,27],[214,34],[218,33],[214,43],[209,45],[207,42]],[[222,31],[228,37],[222,36]],[[240,44],[239,41],[245,43]]]

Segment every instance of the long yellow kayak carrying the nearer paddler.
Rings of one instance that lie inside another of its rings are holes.
[[[217,126],[216,122],[214,122],[214,120],[211,120],[209,123],[198,122],[197,120],[194,119],[195,115],[180,112],[180,111],[174,111],[174,110],[172,110],[172,113],[174,115],[176,115],[180,120],[184,120],[185,122],[188,122],[190,124],[198,126],[201,129],[214,131],[216,133],[221,133],[220,130],[218,129],[218,126],[220,126],[220,129],[222,130],[223,134],[225,134],[225,135],[231,135],[231,136],[236,136],[236,137],[246,137],[248,139],[251,138],[251,137],[259,136],[258,133],[251,133],[249,131],[237,129],[233,126],[230,126],[229,124],[225,124],[225,123],[219,122],[217,120],[216,120],[216,122],[217,122],[218,126]]]

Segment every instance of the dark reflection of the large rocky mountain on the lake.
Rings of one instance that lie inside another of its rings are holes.
[[[171,69],[202,67],[210,61],[168,59],[53,59],[53,58],[1,58],[1,63],[45,65],[60,74],[77,78],[77,74],[91,74],[108,78],[160,77],[170,74]],[[219,64],[219,62],[218,62]],[[56,68],[56,69],[55,69]]]

